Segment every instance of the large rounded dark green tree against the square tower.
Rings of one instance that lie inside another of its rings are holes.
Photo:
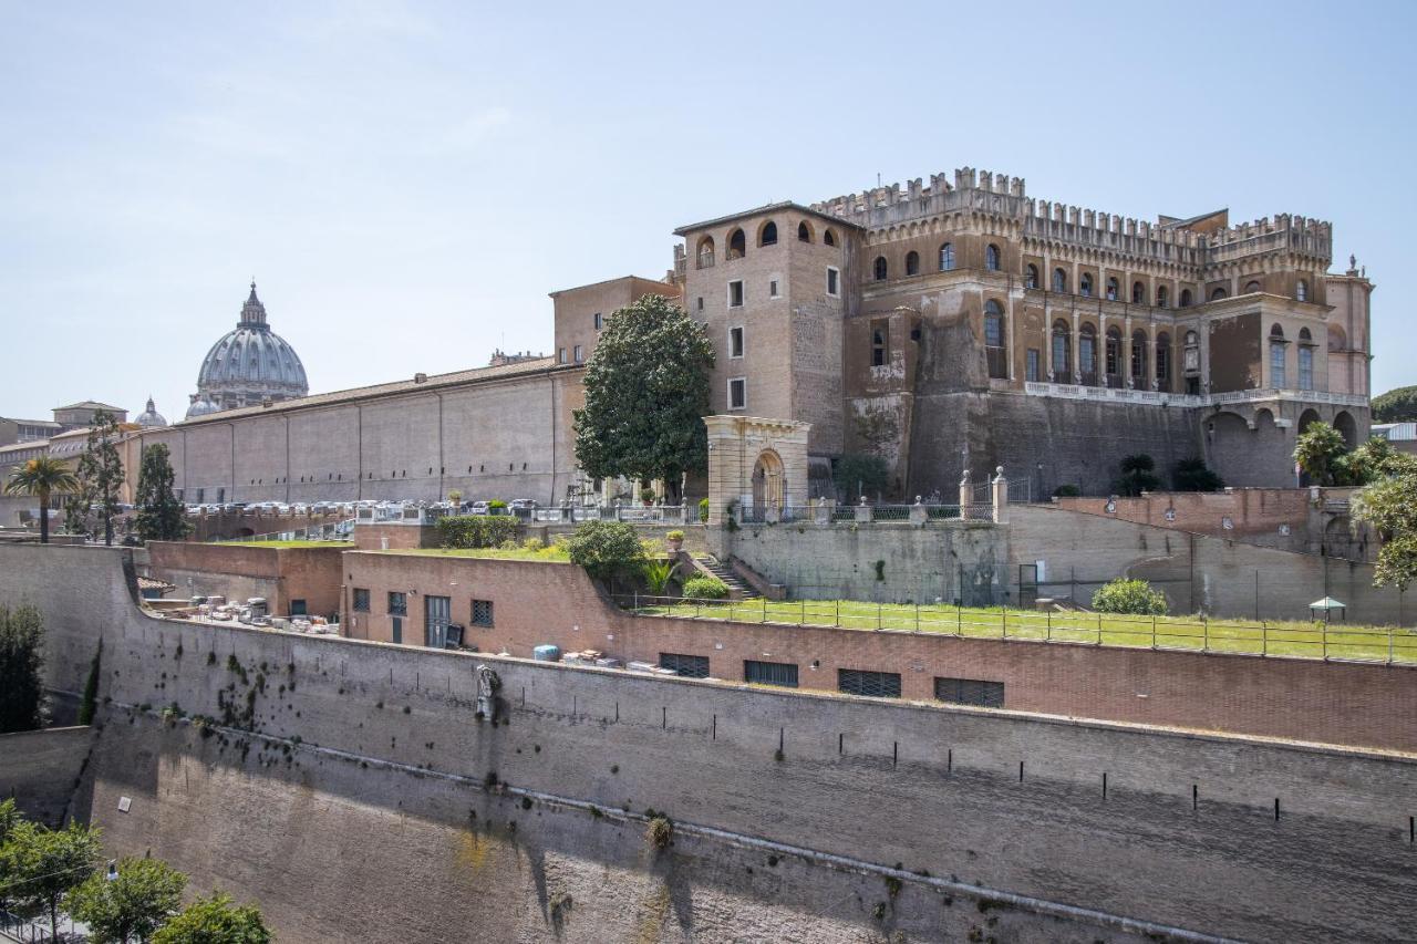
[[[713,344],[684,309],[646,295],[612,313],[585,366],[574,411],[575,459],[594,479],[663,479],[673,503],[684,472],[708,462]]]

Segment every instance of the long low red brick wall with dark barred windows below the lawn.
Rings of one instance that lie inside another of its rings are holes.
[[[390,641],[387,591],[410,592],[404,642],[424,638],[422,597],[495,604],[495,626],[468,625],[486,652],[530,656],[554,644],[657,662],[660,652],[708,656],[714,678],[743,680],[744,659],[792,662],[802,687],[836,689],[837,669],[898,672],[907,699],[931,700],[934,678],[1003,682],[1005,707],[1336,744],[1417,750],[1417,673],[1380,665],[1151,652],[911,632],[631,617],[609,607],[568,564],[347,553],[351,587],[373,612],[350,635]],[[346,624],[349,626],[349,624]],[[813,668],[815,665],[815,668]]]

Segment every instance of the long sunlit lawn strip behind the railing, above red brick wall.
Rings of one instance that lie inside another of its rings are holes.
[[[1417,631],[1311,622],[1204,621],[1197,617],[1119,617],[873,604],[852,600],[721,601],[640,605],[638,612],[699,619],[935,632],[982,639],[1037,639],[1144,649],[1185,649],[1308,659],[1417,665]]]

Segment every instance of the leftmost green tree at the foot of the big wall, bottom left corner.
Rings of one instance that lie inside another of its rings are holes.
[[[71,822],[68,829],[45,829],[23,821],[6,843],[10,897],[20,907],[43,909],[50,933],[60,934],[60,903],[82,884],[99,858],[99,829]]]

